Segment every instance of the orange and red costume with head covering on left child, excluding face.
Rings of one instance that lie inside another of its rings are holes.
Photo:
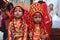
[[[17,7],[17,6],[16,6]],[[15,8],[16,8],[15,7]],[[24,10],[22,20],[16,20],[14,18],[14,10],[11,11],[10,23],[8,28],[8,40],[28,40],[28,25],[27,25],[27,14],[28,11],[23,5],[19,5]],[[23,8],[24,7],[24,8]]]

